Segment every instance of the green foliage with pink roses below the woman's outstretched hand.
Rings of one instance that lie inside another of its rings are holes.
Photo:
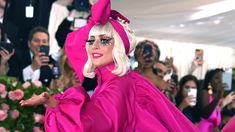
[[[20,100],[49,90],[40,81],[21,83],[16,78],[0,76],[0,131],[43,131],[45,107],[21,107]]]

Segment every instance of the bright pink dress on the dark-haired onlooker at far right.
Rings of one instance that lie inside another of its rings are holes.
[[[212,102],[213,98],[212,96],[209,97],[209,101]],[[218,107],[217,110],[214,109],[214,111],[211,113],[210,117],[205,119],[201,118],[199,122],[199,131],[200,132],[213,132],[213,129],[215,127],[218,127],[221,122],[221,111]]]

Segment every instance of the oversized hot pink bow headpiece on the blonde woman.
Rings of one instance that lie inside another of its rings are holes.
[[[130,21],[119,12],[111,10],[110,6],[110,0],[98,0],[98,2],[96,2],[91,8],[92,16],[89,18],[88,24],[67,35],[65,52],[69,63],[75,70],[81,83],[84,80],[83,68],[87,61],[87,52],[85,48],[86,41],[88,39],[89,32],[94,25],[104,25],[107,22],[110,22],[121,37],[126,54],[129,52],[129,39],[123,26],[117,20],[121,19],[127,23]]]

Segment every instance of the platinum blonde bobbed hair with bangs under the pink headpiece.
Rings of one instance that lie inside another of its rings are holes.
[[[122,24],[122,23],[121,23]],[[136,46],[136,38],[133,33],[133,31],[128,27],[127,24],[122,24],[124,27],[124,30],[127,34],[127,37],[130,42],[130,48],[128,51],[128,54],[132,52]],[[125,53],[125,47],[124,43],[119,36],[119,34],[116,32],[116,30],[113,28],[112,24],[107,22],[105,25],[95,25],[91,28],[89,37],[95,36],[95,35],[101,35],[105,34],[108,37],[114,38],[114,47],[112,51],[113,60],[115,62],[115,69],[112,70],[112,73],[118,76],[123,76],[126,74],[130,69],[130,62],[127,54]],[[88,49],[88,44],[86,44],[86,50]],[[87,50],[88,53],[88,50]],[[88,60],[84,66],[83,69],[83,75],[89,78],[95,77],[95,67],[92,65],[91,57],[88,54]]]

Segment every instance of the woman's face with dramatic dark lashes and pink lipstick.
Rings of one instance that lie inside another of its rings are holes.
[[[113,47],[114,38],[105,34],[91,36],[88,40],[88,53],[92,64],[95,67],[101,67],[113,62]]]

